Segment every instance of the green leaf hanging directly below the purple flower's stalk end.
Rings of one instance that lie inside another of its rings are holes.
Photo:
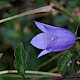
[[[59,59],[58,69],[62,74],[64,74],[67,71],[67,64],[71,60],[71,57],[72,54],[70,53],[70,51],[68,51]]]

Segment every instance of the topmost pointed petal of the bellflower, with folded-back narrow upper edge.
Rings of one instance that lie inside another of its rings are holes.
[[[46,33],[47,33],[47,30],[45,29],[45,26],[47,28],[51,28],[51,29],[57,28],[57,27],[54,27],[54,26],[51,26],[51,25],[48,25],[48,24],[44,24],[44,23],[41,23],[41,22],[37,22],[37,21],[35,21],[35,24],[41,31],[46,32]]]

